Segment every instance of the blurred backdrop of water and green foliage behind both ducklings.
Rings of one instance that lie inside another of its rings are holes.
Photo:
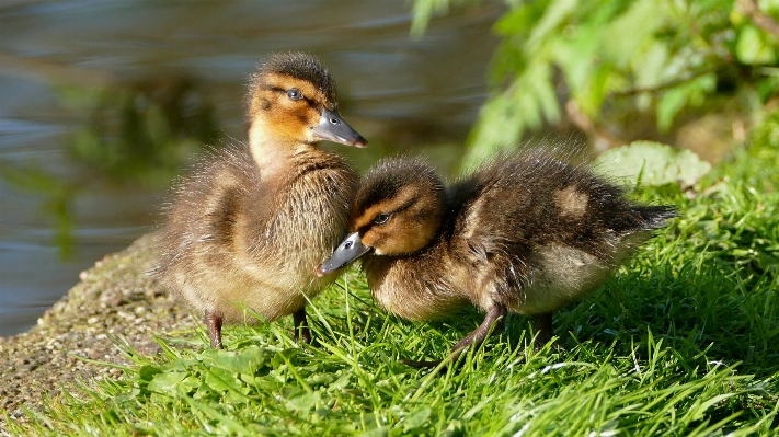
[[[726,159],[779,142],[779,1],[32,1],[0,4],[0,335],[159,222],[204,145],[245,137],[275,50],[318,56],[365,169],[456,173],[539,139]]]

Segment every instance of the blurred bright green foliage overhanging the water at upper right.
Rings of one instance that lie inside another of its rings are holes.
[[[415,0],[415,30],[446,0]],[[507,1],[493,93],[469,138],[467,159],[511,148],[557,124],[565,104],[595,124],[630,130],[638,114],[673,128],[684,112],[738,108],[753,119],[779,88],[776,38],[734,0]],[[779,2],[761,1],[779,16]]]

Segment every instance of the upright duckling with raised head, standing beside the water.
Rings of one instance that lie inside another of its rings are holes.
[[[182,179],[161,229],[161,284],[205,313],[210,346],[241,304],[267,321],[294,314],[310,342],[306,298],[335,279],[313,269],[346,234],[357,176],[321,140],[366,147],[341,117],[335,81],[312,56],[268,56],[251,77],[249,142],[213,151]],[[254,319],[250,323],[257,322]]]

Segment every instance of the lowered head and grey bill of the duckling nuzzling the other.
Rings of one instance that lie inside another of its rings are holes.
[[[352,233],[317,274],[368,253],[402,256],[424,249],[438,234],[444,209],[444,186],[427,164],[414,159],[380,161],[364,176],[352,204]]]

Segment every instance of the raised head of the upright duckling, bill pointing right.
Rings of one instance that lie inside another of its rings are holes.
[[[310,55],[265,58],[251,78],[248,103],[255,157],[268,142],[295,147],[328,140],[360,148],[368,143],[339,114],[335,81]]]

